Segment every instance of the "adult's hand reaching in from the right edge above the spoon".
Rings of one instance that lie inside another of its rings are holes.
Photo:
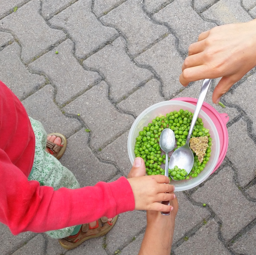
[[[256,19],[217,26],[199,35],[188,48],[180,83],[222,77],[212,94],[213,103],[256,66]]]

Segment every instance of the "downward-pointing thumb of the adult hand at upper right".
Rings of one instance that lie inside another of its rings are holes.
[[[220,97],[228,92],[228,90],[241,78],[236,78],[234,76],[222,77],[217,86],[214,88],[212,93],[212,102],[215,104],[219,103]]]

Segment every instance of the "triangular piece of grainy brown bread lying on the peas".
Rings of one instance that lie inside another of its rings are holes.
[[[189,147],[196,153],[199,162],[202,163],[208,147],[208,136],[190,138]]]

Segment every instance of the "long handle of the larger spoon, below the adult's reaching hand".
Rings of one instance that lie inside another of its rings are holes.
[[[198,96],[198,100],[197,100],[197,103],[196,103],[196,109],[195,109],[195,112],[194,112],[194,115],[193,115],[193,118],[192,118],[192,121],[191,121],[191,124],[190,124],[190,128],[189,128],[189,131],[188,131],[188,137],[187,137],[186,143],[189,143],[189,139],[190,139],[191,134],[193,132],[194,126],[196,124],[197,117],[200,113],[200,110],[201,110],[203,102],[204,102],[204,98],[205,98],[206,93],[207,93],[207,91],[210,87],[211,82],[212,82],[212,79],[204,79],[204,81],[203,81],[203,84],[202,84],[202,87],[201,87],[201,90],[200,90],[200,93],[199,93],[199,96]]]

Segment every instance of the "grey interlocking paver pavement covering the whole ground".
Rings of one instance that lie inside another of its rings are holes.
[[[179,83],[188,46],[207,29],[253,18],[255,0],[2,0],[0,79],[47,132],[67,136],[60,161],[81,186],[114,181],[132,166],[135,118],[156,102],[198,96],[201,81]],[[229,116],[228,151],[203,184],[176,192],[174,255],[256,254],[255,69],[221,98],[226,108],[211,100],[218,81],[205,101]],[[1,224],[0,254],[133,255],[145,227],[144,211],[127,212],[106,236],[67,251]]]

